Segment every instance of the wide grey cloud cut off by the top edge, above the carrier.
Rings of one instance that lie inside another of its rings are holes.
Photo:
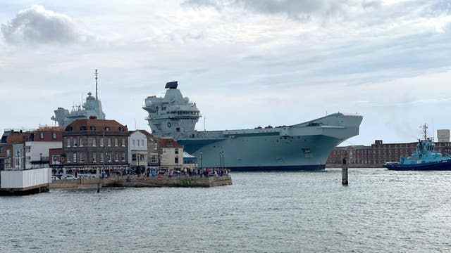
[[[350,9],[369,9],[381,6],[379,0],[187,0],[186,6],[244,8],[255,13],[287,15],[290,18],[309,20],[347,13]]]

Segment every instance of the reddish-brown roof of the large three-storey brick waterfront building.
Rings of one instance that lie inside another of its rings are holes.
[[[80,129],[82,128],[82,126],[85,126],[85,130],[91,131],[92,128],[94,128],[95,131],[103,131],[104,129],[109,128],[109,130],[106,131],[128,132],[127,126],[124,126],[114,119],[77,119],[74,122],[68,124],[65,130],[78,132],[81,131]]]

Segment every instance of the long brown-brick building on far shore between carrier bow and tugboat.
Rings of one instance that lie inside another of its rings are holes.
[[[327,166],[340,167],[343,157],[349,157],[351,167],[383,167],[385,162],[398,162],[401,157],[408,157],[416,150],[417,142],[412,143],[383,143],[374,141],[371,146],[353,145],[334,148],[330,153]],[[450,142],[435,143],[435,151],[451,154]]]

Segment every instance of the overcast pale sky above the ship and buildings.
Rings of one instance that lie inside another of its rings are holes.
[[[67,2],[0,1],[1,129],[53,124],[95,68],[129,129],[149,129],[143,100],[173,80],[210,130],[338,111],[364,115],[346,145],[451,129],[450,0]]]

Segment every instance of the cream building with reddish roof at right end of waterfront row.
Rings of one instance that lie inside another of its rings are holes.
[[[180,170],[183,168],[183,146],[173,138],[159,139],[161,169]]]

